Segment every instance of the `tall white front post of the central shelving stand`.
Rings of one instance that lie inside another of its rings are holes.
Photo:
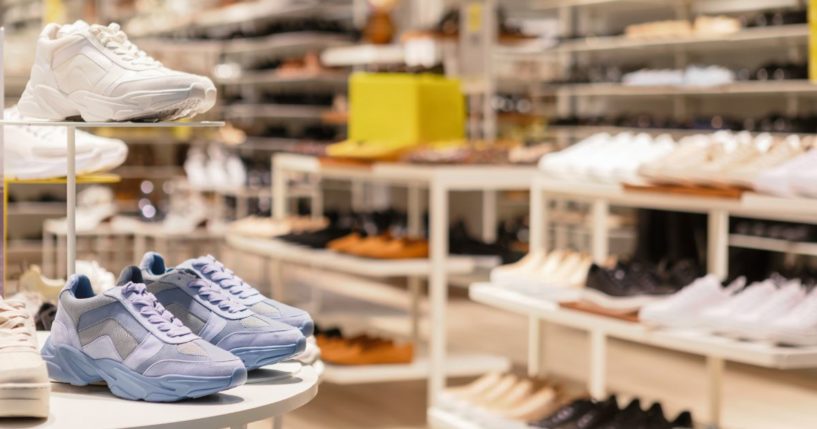
[[[448,300],[446,259],[448,258],[448,189],[439,181],[431,184],[431,226],[429,228],[431,276],[431,338],[429,341],[430,376],[428,404],[434,406],[436,395],[445,388],[446,319]]]

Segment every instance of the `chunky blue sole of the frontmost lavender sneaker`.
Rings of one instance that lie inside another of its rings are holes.
[[[244,384],[247,371],[236,368],[229,376],[201,377],[165,375],[148,377],[111,359],[92,359],[71,346],[54,346],[50,339],[42,349],[53,380],[74,386],[105,381],[114,395],[149,402],[175,402],[199,398]]]

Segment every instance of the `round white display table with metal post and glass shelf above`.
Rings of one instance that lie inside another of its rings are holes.
[[[2,56],[2,44],[0,44]],[[0,71],[0,87],[3,86]],[[65,127],[67,145],[66,222],[65,250],[66,274],[71,275],[76,268],[76,188],[80,179],[76,174],[76,130],[77,128],[144,128],[144,127],[222,127],[219,121],[179,121],[179,122],[74,122],[5,120],[0,118],[0,136],[5,125]],[[0,137],[2,138],[2,137]],[[139,241],[139,240],[135,240]],[[41,338],[44,341],[44,338]],[[42,342],[41,342],[42,344]],[[174,404],[125,401],[113,397],[107,388],[76,388],[69,385],[52,384],[49,418],[38,427],[87,427],[108,428],[246,428],[247,424],[273,418],[273,426],[282,427],[282,416],[297,409],[317,394],[318,374],[311,366],[304,366],[297,373],[280,374],[283,367],[263,368],[264,372],[253,375],[245,385],[228,392],[206,398]],[[281,379],[284,379],[283,382]],[[85,411],[83,411],[85,410]],[[93,419],[88,419],[93,415]],[[126,423],[123,423],[126,422]],[[31,421],[4,419],[0,427],[16,428],[30,425]]]

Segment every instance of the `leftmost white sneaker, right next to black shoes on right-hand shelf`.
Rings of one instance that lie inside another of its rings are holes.
[[[715,275],[709,274],[667,299],[645,305],[638,312],[638,319],[653,326],[696,328],[706,309],[725,304],[745,284],[746,279],[741,277],[724,288]]]

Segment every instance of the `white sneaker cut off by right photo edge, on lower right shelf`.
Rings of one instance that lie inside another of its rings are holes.
[[[762,330],[767,341],[789,346],[817,346],[817,289],[788,314],[772,320]]]

